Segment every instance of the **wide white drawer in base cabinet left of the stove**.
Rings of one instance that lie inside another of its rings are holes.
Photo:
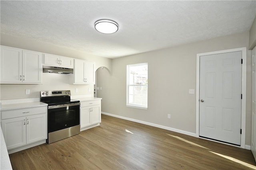
[[[1,112],[2,119],[16,118],[16,117],[28,116],[28,115],[40,114],[40,113],[46,113],[46,107],[24,108],[24,109],[8,110],[8,111]]]

